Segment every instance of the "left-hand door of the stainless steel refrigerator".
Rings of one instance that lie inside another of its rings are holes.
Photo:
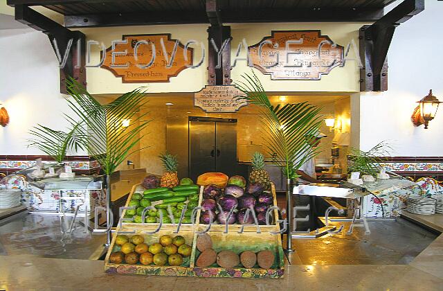
[[[196,182],[203,173],[215,172],[215,122],[189,122],[190,178]]]

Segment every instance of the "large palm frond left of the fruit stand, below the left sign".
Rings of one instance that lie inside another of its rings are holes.
[[[137,151],[134,146],[143,138],[141,133],[150,122],[148,112],[141,111],[147,103],[146,89],[135,89],[107,105],[100,105],[73,78],[69,78],[66,84],[72,97],[68,100],[69,107],[76,115],[70,121],[74,123],[80,118],[84,124],[76,141],[81,141],[89,155],[100,163],[107,175],[111,175],[128,155]],[[132,125],[124,127],[124,119],[131,120]]]

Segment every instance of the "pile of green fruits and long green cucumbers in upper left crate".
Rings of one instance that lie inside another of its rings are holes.
[[[199,186],[193,184],[189,178],[182,179],[181,182],[184,184],[172,188],[156,187],[134,191],[127,202],[127,206],[134,209],[126,209],[124,218],[132,218],[134,223],[157,224],[161,221],[168,224],[191,224],[192,211],[199,204]],[[131,222],[125,220],[123,223]]]

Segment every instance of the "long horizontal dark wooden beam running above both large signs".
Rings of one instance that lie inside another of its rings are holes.
[[[106,14],[66,15],[69,28],[102,26],[135,26],[158,24],[211,24],[217,26],[217,10],[205,11],[146,11]],[[221,23],[252,22],[374,22],[383,16],[383,9],[371,10],[224,10],[218,11]],[[209,19],[208,19],[209,17]],[[212,19],[210,17],[213,17]],[[212,21],[212,22],[211,22]]]

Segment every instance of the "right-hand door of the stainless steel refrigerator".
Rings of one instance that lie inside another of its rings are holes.
[[[215,168],[226,175],[237,175],[237,123],[219,122],[215,127]]]

